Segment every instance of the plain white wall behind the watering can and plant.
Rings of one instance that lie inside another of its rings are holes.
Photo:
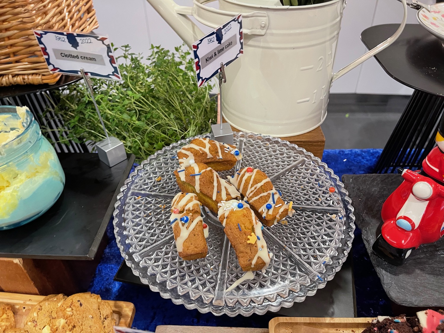
[[[176,0],[190,6],[192,0]],[[100,28],[111,42],[130,44],[135,53],[147,53],[151,44],[173,50],[182,40],[146,0],[94,0]],[[408,8],[408,23],[416,23],[416,11]],[[334,70],[365,53],[361,32],[372,25],[400,23],[402,4],[396,0],[349,0],[344,10]],[[210,28],[199,24],[202,31]],[[373,58],[333,83],[333,93],[410,95],[412,89],[390,78]]]

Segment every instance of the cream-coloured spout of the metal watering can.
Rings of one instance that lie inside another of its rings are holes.
[[[204,35],[202,30],[190,20],[189,16],[192,15],[192,7],[179,6],[174,0],[147,1],[188,47],[191,48],[191,45]]]

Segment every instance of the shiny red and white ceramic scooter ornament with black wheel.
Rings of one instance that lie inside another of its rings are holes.
[[[413,249],[444,235],[444,121],[437,147],[422,162],[422,170],[402,170],[404,182],[382,205],[384,221],[373,251],[392,265],[402,265]]]

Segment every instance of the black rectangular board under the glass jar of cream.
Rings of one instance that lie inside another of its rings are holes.
[[[135,156],[113,167],[94,153],[61,153],[65,188],[45,214],[0,231],[0,257],[92,260]]]

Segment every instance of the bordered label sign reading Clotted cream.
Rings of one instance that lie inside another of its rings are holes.
[[[120,79],[110,42],[105,36],[34,30],[40,49],[53,73]]]

